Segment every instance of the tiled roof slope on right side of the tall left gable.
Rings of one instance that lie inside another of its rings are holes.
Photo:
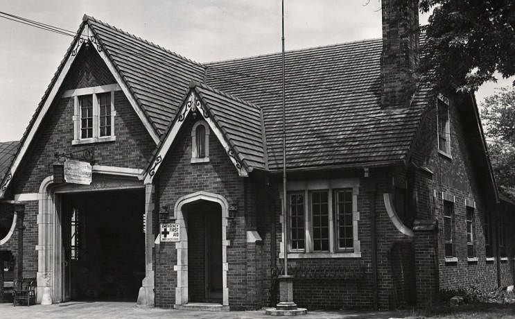
[[[204,80],[204,66],[85,15],[159,136],[177,113],[191,80]]]

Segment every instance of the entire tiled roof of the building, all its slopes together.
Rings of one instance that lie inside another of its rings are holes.
[[[244,163],[257,169],[267,164],[268,169],[280,169],[280,53],[200,64],[87,15],[78,32],[86,23],[160,137],[171,127],[189,83],[205,83],[209,87],[201,85],[198,94],[211,105],[220,130],[234,141]],[[76,40],[46,89],[22,143]],[[405,158],[427,91],[420,90],[410,108],[382,110],[381,49],[378,39],[286,52],[289,169]],[[227,96],[232,97],[225,101]],[[256,123],[265,130],[261,144]]]

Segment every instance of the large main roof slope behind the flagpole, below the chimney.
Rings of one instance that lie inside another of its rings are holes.
[[[289,169],[398,162],[417,130],[427,92],[412,107],[381,108],[382,42],[366,40],[286,52]],[[268,164],[281,167],[281,54],[207,64],[207,84],[263,110]]]

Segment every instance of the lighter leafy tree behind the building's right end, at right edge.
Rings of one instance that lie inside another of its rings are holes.
[[[494,140],[489,154],[498,187],[515,198],[515,88],[500,89],[481,106],[487,136]]]

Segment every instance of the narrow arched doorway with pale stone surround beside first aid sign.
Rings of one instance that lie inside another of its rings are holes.
[[[175,304],[217,302],[229,305],[227,289],[227,200],[198,191],[175,204],[180,242],[176,243]],[[184,234],[184,235],[183,235]]]

